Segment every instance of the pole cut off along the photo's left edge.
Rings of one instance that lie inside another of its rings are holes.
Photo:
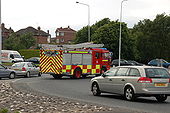
[[[0,0],[0,64],[2,63],[2,26],[1,26],[1,0]]]

